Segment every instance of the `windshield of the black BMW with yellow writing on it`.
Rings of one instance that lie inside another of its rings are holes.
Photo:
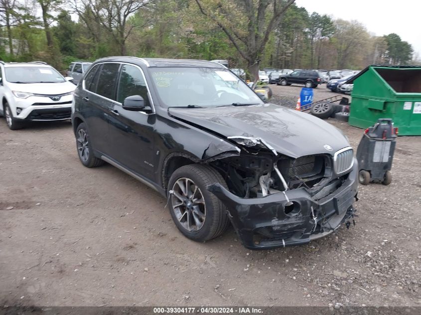
[[[153,68],[152,82],[168,107],[257,105],[263,101],[238,77],[220,68]]]

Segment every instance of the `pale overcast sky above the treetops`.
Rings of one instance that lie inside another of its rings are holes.
[[[377,36],[398,34],[421,57],[420,0],[296,0],[309,13],[358,20]]]

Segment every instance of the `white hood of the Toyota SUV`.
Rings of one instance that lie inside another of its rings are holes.
[[[61,83],[8,83],[10,90],[17,92],[57,95],[72,92],[76,86],[71,82]]]

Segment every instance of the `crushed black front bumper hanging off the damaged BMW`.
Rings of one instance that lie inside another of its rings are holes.
[[[253,199],[239,198],[219,184],[210,185],[208,190],[227,206],[245,247],[270,249],[308,243],[332,233],[351,218],[358,193],[357,175],[354,161],[345,182],[317,201],[304,188]],[[293,207],[285,211],[288,202]]]

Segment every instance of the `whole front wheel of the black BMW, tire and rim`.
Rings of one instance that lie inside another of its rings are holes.
[[[227,184],[215,169],[191,164],[177,169],[168,183],[168,204],[171,217],[180,232],[197,242],[221,235],[228,226],[227,208],[211,192],[208,185]]]

